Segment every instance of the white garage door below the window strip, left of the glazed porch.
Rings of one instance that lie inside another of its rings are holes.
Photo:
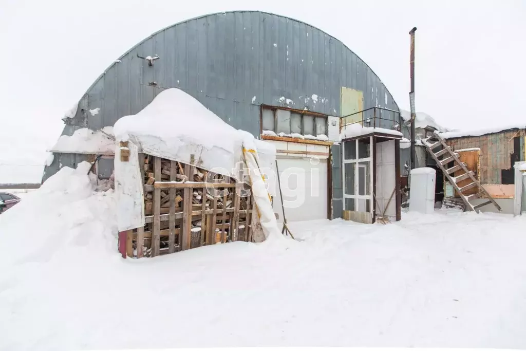
[[[327,218],[327,159],[317,157],[276,158],[287,222]],[[276,182],[274,212],[283,220]]]

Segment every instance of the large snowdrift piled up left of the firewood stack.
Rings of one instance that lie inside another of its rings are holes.
[[[93,257],[105,249],[116,253],[113,190],[94,192],[89,167],[63,167],[0,215],[0,266],[45,263],[79,248],[93,250]]]

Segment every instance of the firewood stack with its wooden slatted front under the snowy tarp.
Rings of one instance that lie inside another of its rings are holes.
[[[128,234],[129,257],[251,241],[254,203],[248,185],[236,185],[235,179],[206,169],[146,154],[139,154],[139,167],[144,175],[146,224]]]

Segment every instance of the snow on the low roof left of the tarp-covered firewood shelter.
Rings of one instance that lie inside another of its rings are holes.
[[[57,153],[71,154],[115,154],[115,139],[113,127],[104,127],[102,131],[92,131],[80,128],[72,136],[62,135],[57,143],[49,150]]]

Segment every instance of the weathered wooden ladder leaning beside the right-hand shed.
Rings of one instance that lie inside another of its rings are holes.
[[[469,171],[469,169],[466,167],[466,163],[461,162],[458,158],[457,153],[451,150],[451,148],[444,142],[444,139],[440,137],[437,133],[434,133],[429,138],[423,140],[424,146],[426,146],[427,151],[433,157],[434,161],[437,163],[437,166],[442,170],[443,174],[446,176],[446,178],[449,180],[449,183],[457,190],[457,193],[460,195],[460,198],[466,204],[466,208],[468,210],[475,211],[479,213],[479,208],[485,205],[493,204],[499,211],[502,210],[500,208],[499,204],[495,202],[493,197],[480,185],[479,180],[475,178],[473,171]],[[437,147],[442,146],[442,149],[440,149],[438,152],[433,152],[433,149],[436,149]],[[442,159],[439,157],[442,156]],[[448,163],[454,162],[454,166],[451,168],[446,168]],[[452,174],[457,171],[464,171],[463,174],[453,177]],[[464,185],[463,187],[459,187],[457,185],[458,182],[464,179],[471,179],[471,183],[468,185]],[[464,195],[462,192],[472,189],[474,187],[478,187],[479,192],[473,195]],[[478,204],[473,205],[470,203],[471,200],[480,198],[482,196],[486,196],[488,198],[487,201]]]

